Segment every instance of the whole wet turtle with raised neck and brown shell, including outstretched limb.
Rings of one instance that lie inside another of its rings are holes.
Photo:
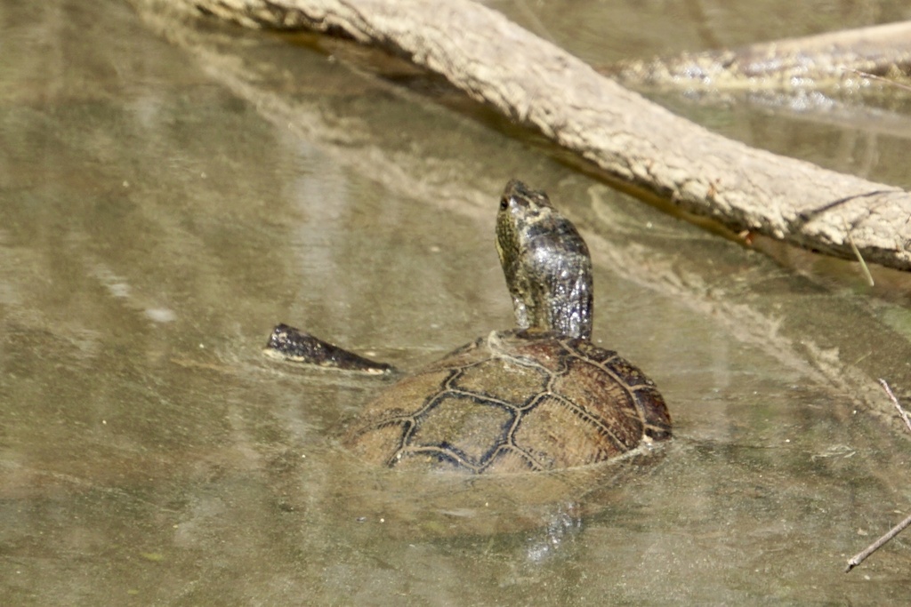
[[[670,439],[654,382],[591,342],[589,249],[544,191],[507,183],[496,250],[516,326],[396,382],[351,422],[343,446],[395,469],[488,474],[588,466]],[[324,367],[392,369],[287,325],[267,350]]]

